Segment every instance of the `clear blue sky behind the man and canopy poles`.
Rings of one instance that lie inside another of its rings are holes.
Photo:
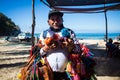
[[[50,8],[35,0],[35,33],[49,28]],[[0,0],[0,12],[10,18],[23,32],[32,31],[32,0]],[[105,33],[104,13],[65,13],[64,26],[76,33]],[[120,33],[120,10],[108,11],[108,33]]]

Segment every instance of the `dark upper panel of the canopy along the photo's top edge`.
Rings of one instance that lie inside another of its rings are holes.
[[[81,6],[118,3],[120,0],[45,0],[51,6]]]

